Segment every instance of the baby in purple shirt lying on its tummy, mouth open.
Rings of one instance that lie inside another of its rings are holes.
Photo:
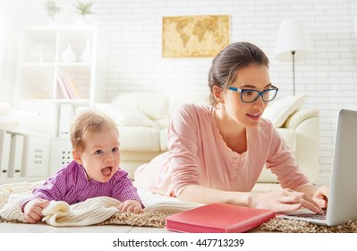
[[[71,128],[73,160],[22,203],[26,220],[42,220],[42,211],[52,200],[73,204],[98,196],[121,201],[120,212],[142,212],[143,204],[132,180],[119,169],[118,138],[115,122],[109,117],[95,111],[78,115]]]

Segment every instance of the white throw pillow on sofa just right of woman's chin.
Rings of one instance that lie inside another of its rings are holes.
[[[286,119],[290,117],[297,109],[301,108],[307,95],[286,96],[269,103],[264,111],[263,117],[268,118],[274,127],[284,125]]]

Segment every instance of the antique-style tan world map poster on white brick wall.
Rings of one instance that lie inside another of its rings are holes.
[[[217,56],[229,44],[228,15],[163,17],[163,56]]]

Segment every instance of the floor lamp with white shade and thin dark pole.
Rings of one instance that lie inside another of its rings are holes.
[[[293,95],[295,95],[295,62],[312,54],[309,34],[301,20],[280,23],[276,43],[276,60],[293,62]]]

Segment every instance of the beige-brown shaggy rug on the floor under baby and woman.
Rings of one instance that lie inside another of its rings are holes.
[[[12,194],[29,192],[34,186],[38,186],[41,183],[16,183],[6,184],[0,186],[0,210],[7,203],[8,198]],[[275,187],[267,187],[274,185],[260,185],[256,188],[256,191],[271,190]],[[98,223],[97,225],[130,225],[136,227],[153,227],[153,228],[165,228],[166,217],[176,212],[183,211],[183,209],[167,210],[167,211],[150,211],[140,214],[133,214],[131,212],[115,212],[105,221]],[[0,217],[0,222],[12,222],[23,223],[21,221],[6,221]],[[38,223],[46,224],[46,223]],[[357,221],[349,221],[343,225],[337,225],[333,227],[320,226],[311,224],[305,221],[285,220],[281,218],[271,219],[258,228],[251,229],[250,232],[285,232],[285,233],[356,233]]]

